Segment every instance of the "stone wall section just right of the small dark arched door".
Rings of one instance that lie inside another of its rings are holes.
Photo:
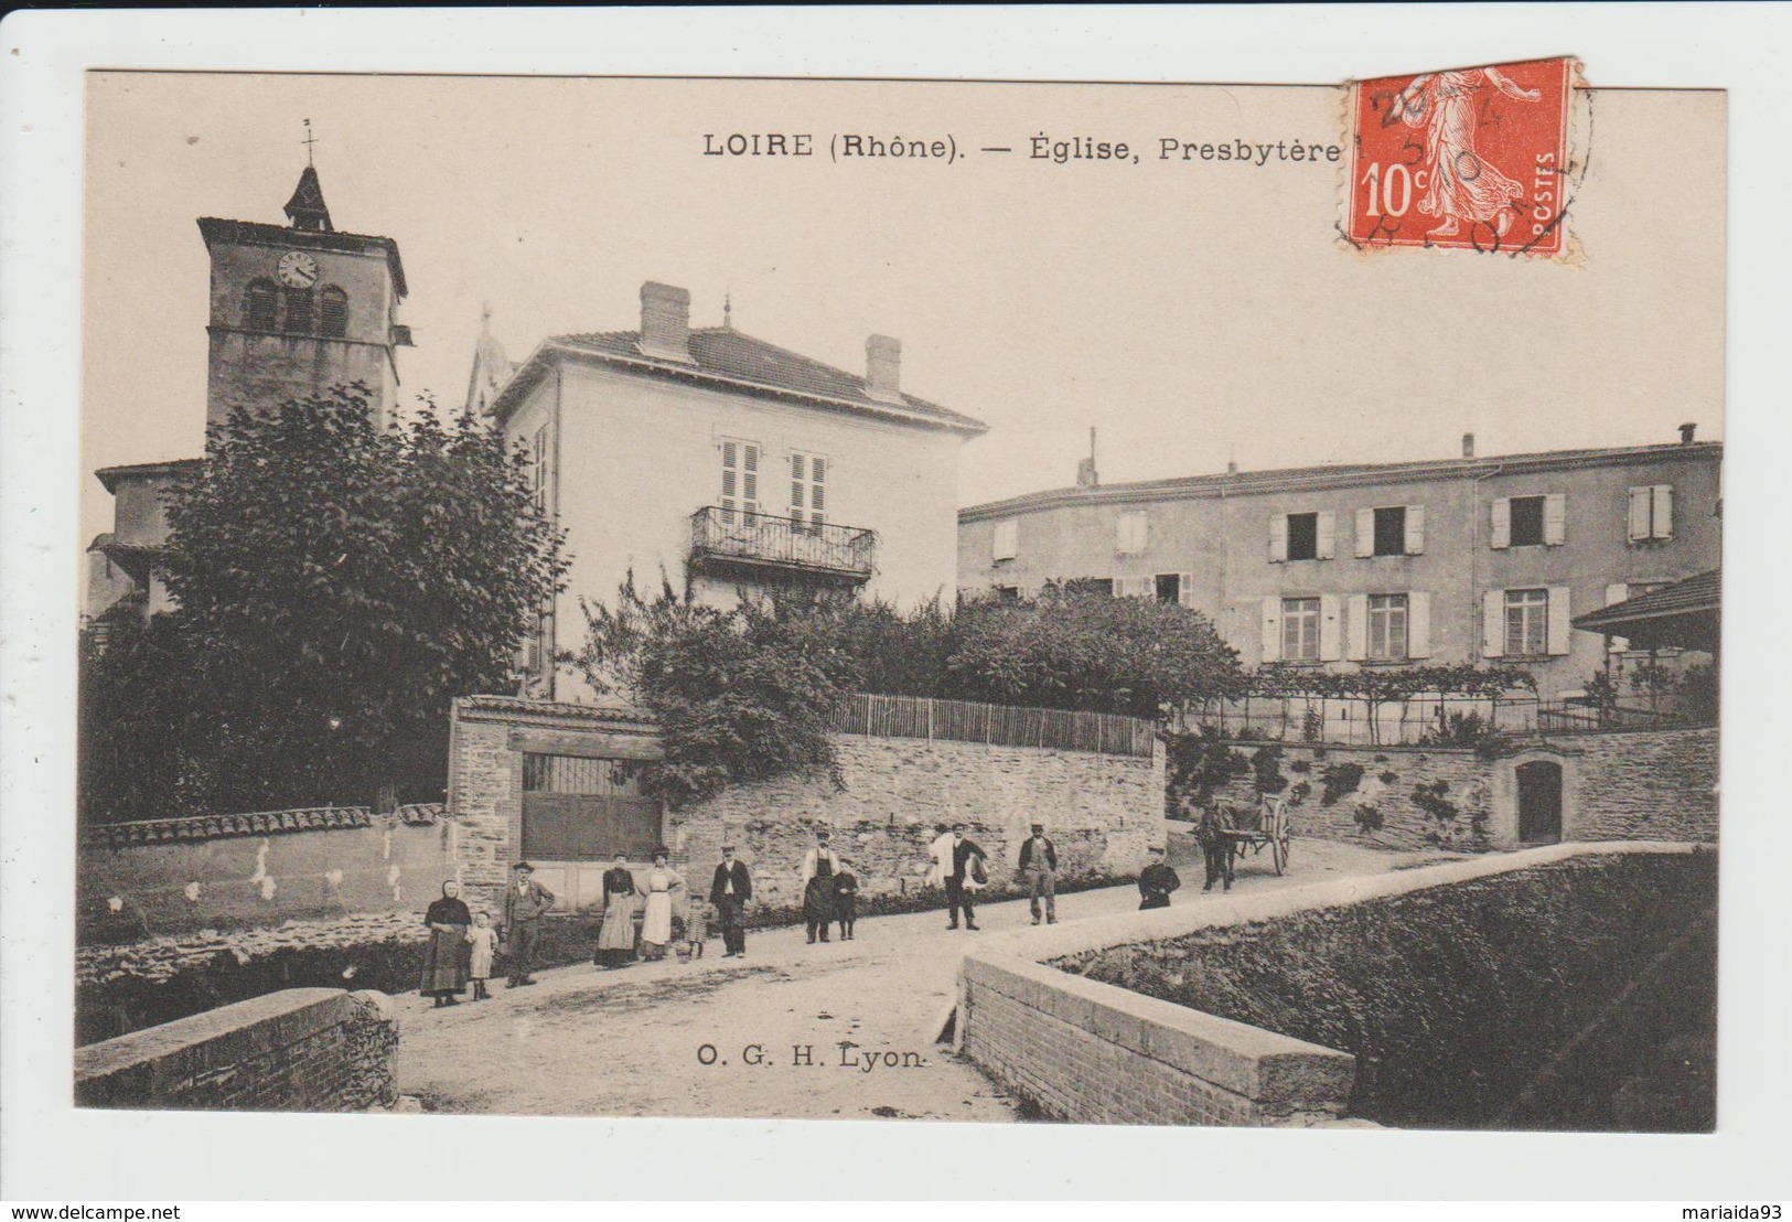
[[[1573,738],[1570,840],[1717,840],[1719,733],[1649,729]]]

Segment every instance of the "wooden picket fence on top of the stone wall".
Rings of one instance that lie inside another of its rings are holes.
[[[984,742],[998,747],[1052,747],[1149,760],[1156,722],[1118,713],[1059,708],[1011,708],[975,701],[932,701],[918,695],[851,695],[835,713],[844,735]]]

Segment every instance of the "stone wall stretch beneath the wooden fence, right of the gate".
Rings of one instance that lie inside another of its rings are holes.
[[[781,778],[740,785],[667,819],[676,862],[694,871],[733,842],[753,867],[754,899],[801,899],[799,869],[817,828],[833,833],[867,896],[925,885],[935,826],[964,822],[989,855],[991,887],[1012,883],[1032,822],[1057,848],[1059,878],[1125,878],[1163,844],[1163,751],[1156,758],[991,747],[919,738],[837,736],[844,788]]]

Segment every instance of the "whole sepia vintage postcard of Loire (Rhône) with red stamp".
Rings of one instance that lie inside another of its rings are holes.
[[[88,73],[75,1104],[1711,1132],[1726,95],[1407,68]]]

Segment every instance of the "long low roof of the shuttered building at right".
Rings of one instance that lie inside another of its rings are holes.
[[[1609,446],[1593,450],[1541,450],[1534,453],[1503,453],[1480,459],[1421,459],[1414,462],[1330,462],[1301,468],[1274,468],[1269,471],[1228,471],[1219,475],[1181,475],[1168,480],[1138,480],[1133,484],[1102,484],[1098,487],[1052,487],[1025,493],[1007,500],[984,502],[959,511],[959,521],[984,521],[1036,509],[1061,505],[1129,503],[1188,500],[1195,496],[1238,496],[1249,493],[1281,493],[1306,487],[1342,487],[1351,484],[1392,484],[1405,480],[1475,478],[1484,475],[1525,475],[1579,466],[1656,462],[1656,460],[1710,460],[1722,459],[1720,441],[1693,444],[1668,443],[1661,446]]]

